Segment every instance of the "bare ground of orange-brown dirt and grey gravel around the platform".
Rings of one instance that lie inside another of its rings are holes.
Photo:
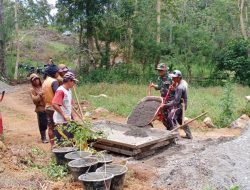
[[[50,145],[40,142],[29,87],[20,85],[5,88],[9,92],[4,97],[0,110],[4,122],[3,142],[7,150],[0,150],[0,189],[82,189],[80,183],[70,182],[69,179],[49,180],[33,167],[32,163],[39,163],[42,167],[48,164],[53,156]],[[103,119],[100,116],[94,118]],[[105,119],[126,122],[126,118],[114,114],[108,114]],[[154,126],[163,127],[159,122],[155,122]],[[247,154],[250,151],[249,146],[245,147],[243,143],[249,139],[249,130],[241,135],[242,129],[239,128],[210,129],[198,122],[194,122],[191,129],[193,140],[180,138],[177,145],[166,147],[154,156],[139,161],[130,160],[124,189],[202,189],[204,184],[223,189],[237,183],[242,185],[243,190],[249,189],[244,177],[250,176],[247,172],[250,171],[250,164],[246,158],[249,159]],[[182,131],[180,134],[184,135]],[[240,154],[236,145],[246,153]],[[230,153],[230,147],[235,152]],[[34,150],[38,149],[44,150],[46,155],[34,156]],[[234,154],[244,158],[234,157]],[[122,156],[116,156],[115,162],[122,163],[123,159]],[[242,161],[238,162],[239,160]],[[215,173],[220,167],[225,170]],[[233,170],[233,167],[236,169]],[[239,171],[242,172],[241,179],[237,176]],[[229,178],[232,180],[228,181]]]

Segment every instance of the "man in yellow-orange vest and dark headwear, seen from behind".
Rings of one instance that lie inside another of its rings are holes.
[[[58,67],[54,64],[48,66],[46,68],[47,77],[42,84],[42,92],[45,102],[45,112],[47,116],[48,133],[51,147],[54,146],[54,137],[55,135],[57,135],[54,130],[55,123],[53,121],[54,108],[52,106],[52,100],[58,88],[58,81],[56,80],[59,75],[58,70]]]

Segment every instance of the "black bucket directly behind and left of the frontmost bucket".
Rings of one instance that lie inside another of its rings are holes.
[[[72,172],[74,180],[86,172],[95,172],[97,168],[98,160],[96,158],[80,158],[72,160],[68,163],[68,166]]]

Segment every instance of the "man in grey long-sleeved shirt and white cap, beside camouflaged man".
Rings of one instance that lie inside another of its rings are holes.
[[[185,104],[185,110],[187,109],[187,85],[186,82],[182,79],[182,73],[179,70],[175,70],[172,74],[173,82],[176,84],[175,94],[173,100],[162,105],[162,108],[168,109],[168,115],[164,118],[165,123],[167,124],[168,130],[173,130],[177,127],[177,123],[182,124],[182,100]],[[186,138],[192,139],[192,133],[188,126],[183,127]]]

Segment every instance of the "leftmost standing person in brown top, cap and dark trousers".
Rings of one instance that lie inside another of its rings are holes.
[[[30,89],[30,96],[33,103],[36,105],[35,112],[37,113],[37,120],[42,143],[48,143],[46,139],[47,117],[45,113],[45,102],[42,97],[42,82],[35,73],[30,75],[30,82],[32,88]]]

